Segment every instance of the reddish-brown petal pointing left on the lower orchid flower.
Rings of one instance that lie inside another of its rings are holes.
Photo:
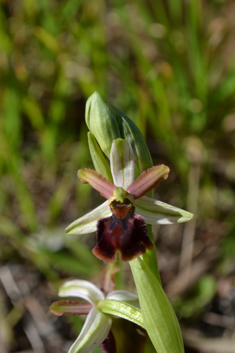
[[[92,304],[77,302],[74,300],[61,300],[59,302],[54,302],[50,306],[50,311],[57,316],[63,314],[88,315],[91,309]]]

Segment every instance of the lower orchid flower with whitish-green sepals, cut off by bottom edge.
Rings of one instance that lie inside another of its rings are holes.
[[[110,272],[105,269],[106,273]],[[109,274],[108,274],[109,275]],[[106,279],[103,282],[107,282]],[[110,278],[108,278],[110,286]],[[110,337],[112,317],[118,316],[143,326],[141,312],[138,308],[125,303],[136,302],[138,296],[126,290],[112,290],[107,293],[95,284],[81,279],[64,282],[59,289],[59,297],[76,297],[88,303],[61,300],[51,305],[50,310],[57,316],[62,314],[88,315],[80,335],[71,345],[68,353],[90,353]],[[114,341],[115,342],[115,341]],[[114,343],[115,344],[115,343]]]

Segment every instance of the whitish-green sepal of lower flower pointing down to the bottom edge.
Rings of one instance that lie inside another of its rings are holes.
[[[96,308],[90,311],[79,337],[68,353],[90,353],[108,336],[112,319]]]

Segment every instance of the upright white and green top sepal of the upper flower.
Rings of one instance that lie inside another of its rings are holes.
[[[134,154],[129,141],[114,140],[110,151],[110,167],[113,182],[117,187],[127,190],[134,180]]]

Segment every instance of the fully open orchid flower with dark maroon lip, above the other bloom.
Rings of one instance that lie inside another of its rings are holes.
[[[65,230],[67,234],[96,230],[97,245],[92,251],[97,258],[114,262],[119,251],[121,260],[130,261],[153,248],[146,223],[180,223],[193,217],[190,212],[144,196],[168,178],[170,169],[164,164],[155,165],[134,180],[134,154],[127,140],[113,141],[110,167],[114,184],[96,170],[83,168],[77,172],[82,183],[89,183],[107,200]]]

